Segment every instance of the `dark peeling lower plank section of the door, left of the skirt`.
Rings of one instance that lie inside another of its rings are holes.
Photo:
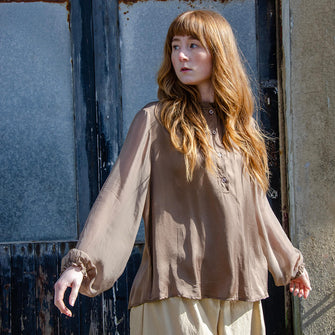
[[[71,308],[73,318],[68,318],[53,304],[53,285],[61,258],[74,246],[75,242],[0,248],[1,334],[129,334],[128,297],[142,247],[134,247],[124,274],[112,289],[94,299],[80,296]]]

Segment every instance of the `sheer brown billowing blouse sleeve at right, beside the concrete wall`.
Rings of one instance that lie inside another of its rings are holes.
[[[256,207],[262,249],[269,271],[277,286],[287,285],[303,266],[302,254],[292,245],[260,187],[256,189]]]

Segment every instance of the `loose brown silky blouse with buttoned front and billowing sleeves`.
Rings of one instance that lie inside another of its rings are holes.
[[[139,111],[109,177],[63,268],[84,272],[82,294],[113,286],[131,254],[141,217],[145,246],[129,307],[184,297],[258,301],[267,277],[286,285],[303,258],[274,215],[266,194],[222,145],[215,109],[202,108],[213,147],[213,171],[201,162],[191,182],[184,156],[159,119],[159,103]]]

